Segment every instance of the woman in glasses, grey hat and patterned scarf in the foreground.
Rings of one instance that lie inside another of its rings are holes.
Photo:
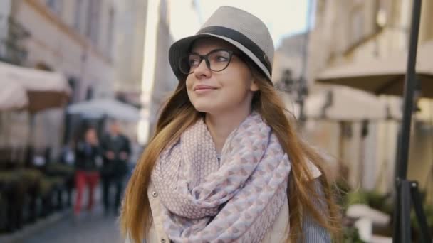
[[[325,161],[285,113],[271,82],[273,52],[264,23],[229,6],[172,44],[179,84],[127,185],[120,219],[127,242],[338,235]]]

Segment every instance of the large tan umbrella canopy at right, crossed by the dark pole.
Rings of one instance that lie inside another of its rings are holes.
[[[420,95],[433,98],[433,41],[420,45],[417,54],[417,76]],[[375,95],[402,95],[407,66],[407,52],[389,58],[365,60],[324,70],[316,80],[345,85]]]

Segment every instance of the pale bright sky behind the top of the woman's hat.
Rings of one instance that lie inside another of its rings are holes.
[[[188,11],[185,11],[184,4],[190,6]],[[264,21],[276,47],[283,37],[306,30],[308,0],[172,0],[174,39],[197,32],[199,26],[224,5],[244,9]],[[194,6],[197,12],[194,12]],[[185,26],[182,23],[190,24]]]

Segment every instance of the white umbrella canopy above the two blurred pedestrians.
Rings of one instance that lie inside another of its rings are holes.
[[[103,116],[122,121],[138,121],[140,110],[130,104],[118,102],[115,99],[92,99],[86,102],[72,104],[68,107],[70,114],[82,114],[89,118],[101,118]]]

